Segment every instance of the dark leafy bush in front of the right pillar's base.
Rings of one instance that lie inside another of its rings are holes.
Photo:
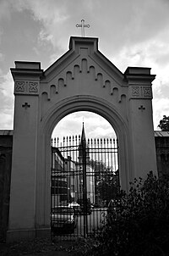
[[[118,195],[116,218],[108,218],[89,255],[169,255],[169,180],[152,172]],[[119,207],[120,204],[120,207]]]

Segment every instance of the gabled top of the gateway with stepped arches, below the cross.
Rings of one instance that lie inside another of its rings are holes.
[[[94,95],[108,96],[112,101],[116,94],[120,103],[126,96],[125,87],[123,73],[98,50],[98,38],[92,37],[71,37],[68,52],[44,72],[41,80],[41,93],[46,93],[48,100],[60,94],[59,99]]]

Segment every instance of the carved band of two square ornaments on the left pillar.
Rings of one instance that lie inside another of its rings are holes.
[[[14,94],[39,94],[39,81],[15,81]]]

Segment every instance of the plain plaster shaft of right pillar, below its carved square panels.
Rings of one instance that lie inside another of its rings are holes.
[[[152,170],[156,174],[155,136],[150,100],[130,101],[130,138],[133,147],[134,177],[146,178]],[[143,105],[144,109],[139,109]]]

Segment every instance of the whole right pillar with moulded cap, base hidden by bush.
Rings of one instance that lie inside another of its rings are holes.
[[[151,88],[155,75],[150,75],[149,68],[136,67],[128,67],[124,75],[128,81],[132,178],[145,178],[151,170],[157,175]]]

